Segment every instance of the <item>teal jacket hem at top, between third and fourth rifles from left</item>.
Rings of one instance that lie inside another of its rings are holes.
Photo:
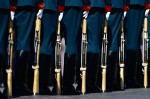
[[[83,5],[89,5],[90,0],[65,0],[65,6],[77,6],[83,7]]]

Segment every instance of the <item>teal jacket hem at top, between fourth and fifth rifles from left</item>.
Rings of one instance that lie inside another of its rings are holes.
[[[90,0],[91,7],[101,7],[105,8],[105,0]]]

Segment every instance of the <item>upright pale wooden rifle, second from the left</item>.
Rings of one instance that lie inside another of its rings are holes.
[[[36,19],[36,30],[34,38],[34,80],[33,80],[33,94],[39,94],[39,53],[40,53],[40,35],[41,35],[41,19],[37,17]]]

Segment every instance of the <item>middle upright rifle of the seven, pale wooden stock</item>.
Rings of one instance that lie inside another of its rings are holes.
[[[81,72],[82,72],[82,87],[81,92],[86,93],[86,58],[87,58],[87,20],[83,19],[82,42],[81,42]]]

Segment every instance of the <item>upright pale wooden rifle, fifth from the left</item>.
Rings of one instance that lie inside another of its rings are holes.
[[[107,19],[104,22],[104,35],[102,41],[101,68],[102,68],[102,92],[106,91],[106,68],[107,68]]]

